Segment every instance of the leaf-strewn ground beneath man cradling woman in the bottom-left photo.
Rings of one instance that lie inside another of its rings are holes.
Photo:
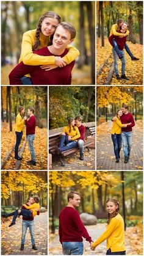
[[[20,251],[21,246],[21,224],[22,219],[16,221],[16,225],[7,225],[1,232],[1,254],[2,255],[47,255],[48,254],[48,213],[40,213],[35,216],[35,244],[37,251],[32,250],[31,235],[29,229],[26,233],[26,244],[24,251]]]

